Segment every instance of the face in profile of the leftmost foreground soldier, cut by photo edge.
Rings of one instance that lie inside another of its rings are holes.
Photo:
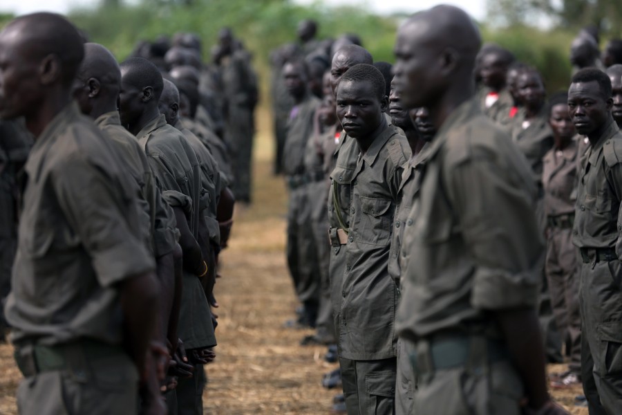
[[[0,33],[0,118],[28,117],[39,108],[40,60],[32,47],[21,42],[21,24],[13,24]]]

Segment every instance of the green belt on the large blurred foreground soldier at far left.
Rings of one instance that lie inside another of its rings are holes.
[[[120,353],[124,353],[120,346],[95,340],[77,340],[53,346],[28,344],[15,347],[15,362],[21,374],[28,378],[45,371],[84,372],[87,362]]]

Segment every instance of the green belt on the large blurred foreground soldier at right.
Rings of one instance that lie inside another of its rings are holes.
[[[417,376],[432,374],[437,369],[461,367],[469,362],[498,362],[509,358],[505,344],[478,335],[453,335],[433,340],[420,340],[411,353]]]

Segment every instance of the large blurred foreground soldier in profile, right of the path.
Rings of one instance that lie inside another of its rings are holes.
[[[397,33],[395,89],[438,130],[400,252],[397,331],[415,351],[413,413],[565,414],[547,394],[536,315],[536,187],[473,100],[480,42],[453,6],[417,13]]]

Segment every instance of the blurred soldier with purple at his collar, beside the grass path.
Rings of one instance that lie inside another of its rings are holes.
[[[285,86],[294,98],[283,149],[283,173],[290,192],[288,268],[298,299],[303,304],[299,323],[315,327],[319,306],[320,270],[312,238],[312,210],[307,199],[308,176],[304,157],[307,141],[313,134],[313,120],[319,100],[308,90],[308,68],[303,60],[286,63],[283,66],[283,77]]]

